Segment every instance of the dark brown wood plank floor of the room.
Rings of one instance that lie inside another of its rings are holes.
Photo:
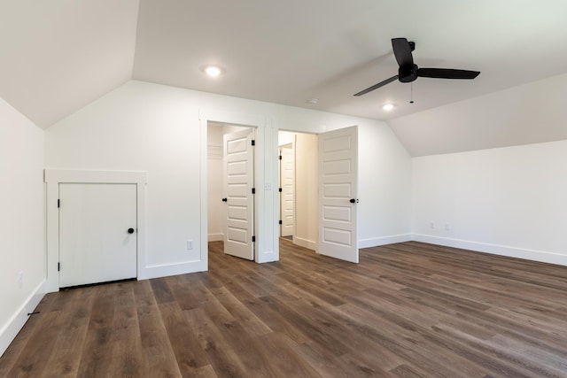
[[[424,243],[49,294],[0,376],[566,377],[567,268]]]

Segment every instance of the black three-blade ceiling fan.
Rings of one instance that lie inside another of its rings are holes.
[[[379,83],[361,90],[354,96],[365,95],[374,89],[384,87],[384,85],[392,81],[399,80],[401,82],[415,81],[418,77],[431,77],[434,79],[474,79],[478,76],[478,71],[454,70],[451,68],[419,68],[414,63],[414,57],[411,51],[416,49],[415,42],[408,42],[406,38],[392,38],[393,55],[398,61],[398,74],[390,79],[380,81]]]

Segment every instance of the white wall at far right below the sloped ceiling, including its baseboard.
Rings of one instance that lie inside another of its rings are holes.
[[[567,265],[567,141],[414,158],[413,177],[416,240]]]

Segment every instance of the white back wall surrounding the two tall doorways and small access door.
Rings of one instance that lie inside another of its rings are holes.
[[[186,240],[195,241],[194,251],[200,251],[202,244],[199,162],[206,145],[201,146],[205,138],[200,136],[199,114],[203,118],[202,114],[211,113],[264,120],[264,129],[259,130],[264,136],[257,138],[263,144],[260,188],[264,183],[276,188],[277,128],[320,133],[358,125],[361,160],[366,160],[364,154],[372,160],[360,165],[364,189],[359,235],[366,239],[366,246],[388,241],[392,235],[409,238],[411,161],[390,128],[377,120],[129,81],[46,131],[45,166],[146,171],[146,264],[166,270],[183,266],[197,258],[186,250]],[[266,243],[261,249],[277,251],[273,242],[277,240],[277,191],[260,190],[259,200],[260,217],[264,217],[260,243]]]

